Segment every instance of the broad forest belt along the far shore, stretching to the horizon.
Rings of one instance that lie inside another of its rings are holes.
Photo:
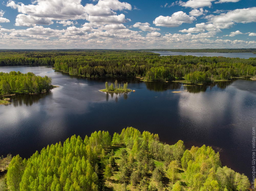
[[[53,66],[84,77],[143,77],[145,81],[186,79],[193,83],[254,76],[256,58],[159,56],[132,50],[44,50],[0,52],[0,66]]]

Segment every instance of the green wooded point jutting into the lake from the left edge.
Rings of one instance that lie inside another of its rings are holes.
[[[51,78],[40,77],[32,72],[23,74],[11,71],[9,73],[0,72],[0,94],[37,94],[45,93],[53,86]]]

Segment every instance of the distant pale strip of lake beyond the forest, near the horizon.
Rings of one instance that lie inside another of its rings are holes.
[[[212,53],[212,52],[196,52],[196,53],[191,53],[191,52],[153,52],[153,53],[158,53],[160,56],[174,56],[174,55],[191,55],[191,56],[223,56],[223,57],[230,57],[230,58],[255,58],[256,54],[253,53]]]

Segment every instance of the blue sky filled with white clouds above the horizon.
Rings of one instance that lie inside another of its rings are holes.
[[[0,0],[0,49],[256,48],[256,0]]]

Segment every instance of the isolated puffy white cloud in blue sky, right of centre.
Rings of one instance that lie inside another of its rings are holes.
[[[192,23],[196,18],[194,16],[189,16],[183,11],[178,11],[172,14],[172,16],[159,16],[155,18],[153,23],[156,26],[162,27],[178,27],[182,23]]]

